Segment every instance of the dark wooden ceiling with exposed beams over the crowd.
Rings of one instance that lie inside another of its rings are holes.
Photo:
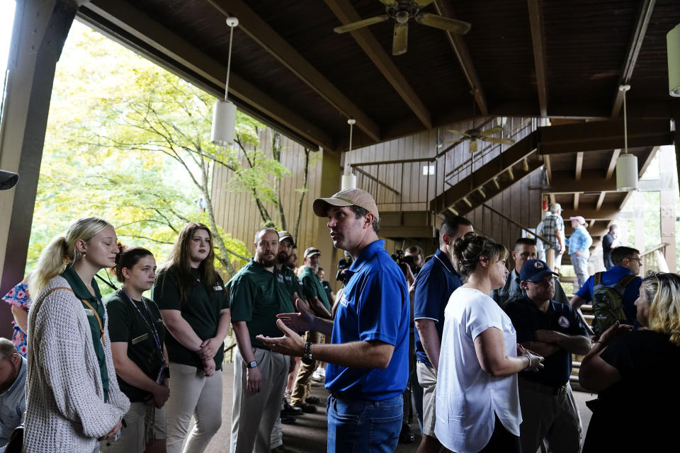
[[[394,57],[391,22],[333,32],[384,13],[378,0],[93,0],[79,18],[224,96],[225,17],[236,16],[229,98],[314,149],[346,149],[350,117],[354,147],[472,116],[620,117],[620,84],[632,86],[629,117],[678,116],[665,38],[677,0],[436,0],[425,11],[472,29],[411,21],[409,50]],[[608,158],[584,156],[583,170],[596,159]]]

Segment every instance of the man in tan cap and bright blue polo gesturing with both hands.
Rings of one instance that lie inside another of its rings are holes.
[[[367,192],[341,190],[314,200],[313,209],[328,217],[333,245],[354,258],[335,320],[313,316],[298,301],[299,314],[279,316],[285,336],[258,338],[277,352],[328,362],[328,452],[394,452],[409,373],[406,279],[378,240],[378,206]],[[331,344],[305,343],[295,333],[310,329],[331,336]]]

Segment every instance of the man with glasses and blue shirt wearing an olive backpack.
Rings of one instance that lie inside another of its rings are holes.
[[[621,321],[638,327],[635,318],[635,299],[638,299],[642,278],[640,272],[640,251],[632,247],[616,247],[611,251],[613,266],[605,272],[596,273],[569,301],[578,311],[583,304],[592,302],[595,319],[593,331],[599,338],[602,332]]]

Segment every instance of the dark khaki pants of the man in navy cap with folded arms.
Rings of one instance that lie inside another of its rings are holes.
[[[541,443],[546,445],[545,451],[551,453],[581,451],[581,415],[569,383],[564,394],[550,395],[527,388],[520,382],[519,403],[523,453],[536,453]]]

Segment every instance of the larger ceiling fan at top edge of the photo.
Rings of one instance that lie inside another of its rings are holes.
[[[413,18],[421,25],[446,30],[456,35],[465,35],[470,31],[470,24],[456,19],[438,16],[437,14],[423,13],[421,8],[428,6],[434,0],[380,0],[385,5],[386,14],[375,16],[363,21],[357,21],[336,27],[335,33],[346,33],[357,28],[367,27],[374,23],[385,22],[389,19],[395,21],[395,33],[392,38],[392,55],[402,55],[408,49],[409,20]]]

